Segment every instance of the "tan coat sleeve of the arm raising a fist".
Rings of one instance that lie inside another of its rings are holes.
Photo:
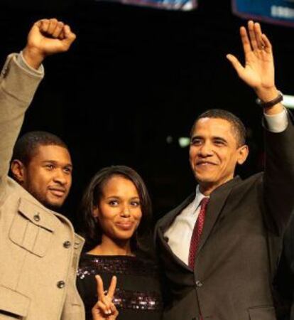
[[[5,196],[13,146],[23,123],[26,109],[33,100],[43,73],[31,73],[17,60],[16,54],[6,59],[0,75],[0,201]]]

